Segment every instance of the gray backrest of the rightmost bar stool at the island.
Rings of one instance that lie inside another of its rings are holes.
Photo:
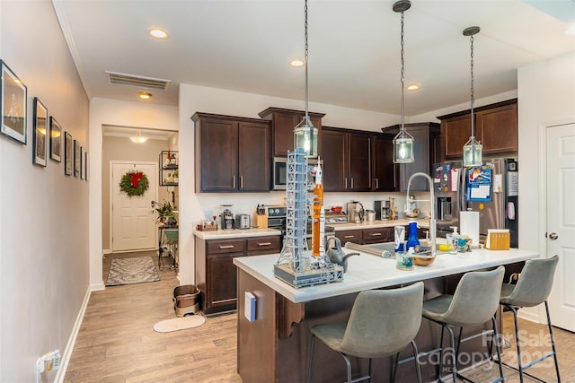
[[[513,291],[501,303],[517,307],[533,307],[543,303],[551,293],[553,275],[559,256],[530,259],[521,270]]]

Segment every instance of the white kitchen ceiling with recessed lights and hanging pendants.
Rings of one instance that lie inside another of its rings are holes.
[[[180,83],[305,97],[304,69],[288,65],[303,57],[303,0],[52,1],[90,98],[137,100],[137,91],[146,91],[113,85],[105,71],[171,80],[167,91],[150,91],[160,104],[178,105]],[[421,89],[406,92],[406,115],[469,100],[466,27],[482,29],[474,39],[477,99],[517,89],[517,67],[575,50],[575,36],[563,33],[567,18],[526,1],[412,0],[405,82]],[[575,16],[574,0],[545,2]],[[309,0],[310,101],[401,114],[400,14],[393,4]],[[151,27],[170,38],[150,38]]]

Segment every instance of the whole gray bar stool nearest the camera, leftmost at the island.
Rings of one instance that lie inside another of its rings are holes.
[[[398,354],[411,343],[418,382],[421,382],[417,345],[413,338],[420,330],[422,302],[422,282],[393,290],[359,292],[347,322],[311,326],[308,383],[314,370],[316,337],[343,357],[348,383],[371,379],[372,358]],[[369,375],[352,380],[349,356],[368,358]]]

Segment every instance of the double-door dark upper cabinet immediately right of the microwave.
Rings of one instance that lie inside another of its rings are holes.
[[[325,126],[322,132],[323,189],[369,191],[373,135]]]

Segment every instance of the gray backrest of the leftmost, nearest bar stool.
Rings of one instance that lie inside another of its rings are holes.
[[[422,306],[422,282],[394,290],[359,292],[341,349],[361,358],[402,351],[420,330]]]

